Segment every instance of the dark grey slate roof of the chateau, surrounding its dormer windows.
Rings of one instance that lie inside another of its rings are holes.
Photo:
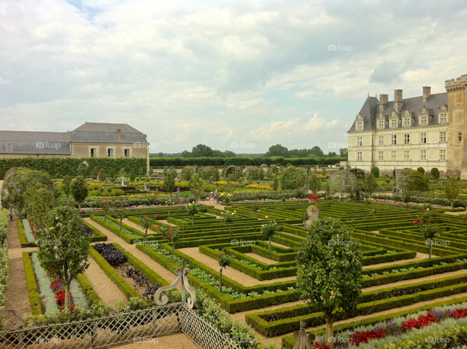
[[[415,118],[412,120],[411,127],[418,127],[418,113],[423,108],[423,106],[431,109],[429,110],[429,115],[432,115],[430,123],[428,126],[438,125],[438,110],[444,104],[448,105],[448,92],[435,93],[431,94],[427,101],[423,103],[423,96],[405,98],[402,100],[401,114],[403,115],[405,110],[413,111]],[[394,101],[389,101],[383,113],[389,114],[388,117],[391,117],[391,113],[394,110]],[[377,129],[377,116],[379,114],[379,100],[376,97],[367,97],[363,107],[360,109],[360,113],[364,116],[365,125],[363,131],[369,131],[372,129]],[[347,133],[357,132],[355,130],[354,122]],[[360,132],[360,131],[359,131]]]

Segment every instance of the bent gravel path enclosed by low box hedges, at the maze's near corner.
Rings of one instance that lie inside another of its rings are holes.
[[[217,260],[200,253],[199,247],[180,248],[178,250],[184,253],[185,255],[195,258],[198,262],[201,262],[204,265],[216,271],[220,269],[219,263],[217,262]],[[295,276],[290,276],[290,277],[282,277],[282,278],[273,279],[273,280],[259,281],[259,280],[256,280],[254,277],[251,277],[242,272],[239,272],[238,270],[235,270],[234,268],[229,268],[229,267],[224,269],[224,271],[222,272],[222,275],[231,278],[232,280],[242,284],[245,287],[270,284],[272,282],[284,282],[284,281],[289,281],[289,280],[295,280],[296,278]]]

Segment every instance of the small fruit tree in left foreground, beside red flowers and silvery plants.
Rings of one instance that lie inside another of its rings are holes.
[[[89,267],[90,241],[83,222],[70,206],[58,206],[47,218],[47,229],[38,232],[37,257],[42,268],[63,284],[65,309],[71,309],[70,284]]]

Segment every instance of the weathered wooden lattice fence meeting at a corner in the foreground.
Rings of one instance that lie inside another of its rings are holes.
[[[0,349],[86,349],[125,342],[153,342],[183,332],[205,349],[239,349],[186,303],[172,303],[97,319],[0,331]]]

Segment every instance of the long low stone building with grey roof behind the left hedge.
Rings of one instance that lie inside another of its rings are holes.
[[[145,158],[146,135],[128,124],[87,122],[68,132],[0,131],[0,159]]]

